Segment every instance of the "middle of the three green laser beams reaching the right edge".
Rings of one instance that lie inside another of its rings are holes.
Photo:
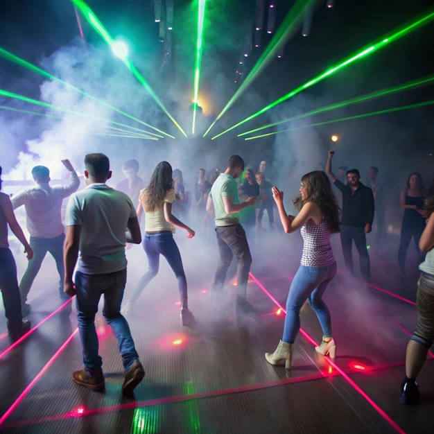
[[[275,127],[276,125],[281,125],[282,123],[295,121],[296,119],[302,119],[306,116],[311,116],[313,114],[328,112],[329,110],[335,110],[335,109],[340,108],[340,107],[347,107],[348,105],[352,105],[352,104],[356,104],[356,103],[362,103],[364,101],[369,101],[369,100],[372,100],[374,98],[380,98],[381,96],[387,96],[390,94],[394,94],[396,92],[403,92],[404,90],[413,89],[413,87],[431,85],[433,81],[434,81],[434,74],[432,74],[431,76],[426,76],[424,78],[417,78],[416,80],[412,80],[412,81],[404,83],[402,85],[397,85],[395,87],[389,87],[388,89],[381,89],[379,91],[371,92],[370,94],[358,96],[356,98],[351,98],[351,99],[348,99],[346,101],[342,101],[340,103],[327,105],[327,107],[321,107],[321,108],[318,108],[316,110],[311,110],[310,112],[298,114],[297,116],[293,116],[293,117],[284,119],[283,121],[278,121],[275,123],[268,123],[268,125],[263,125],[262,127],[254,128],[254,130],[241,132],[241,134],[238,134],[238,137],[243,137],[247,134],[252,134],[253,132],[265,130],[266,128]]]

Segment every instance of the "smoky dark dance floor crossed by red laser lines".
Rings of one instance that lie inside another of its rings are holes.
[[[248,286],[248,299],[258,312],[245,319],[235,315],[233,268],[227,300],[219,309],[211,303],[216,241],[175,234],[196,323],[182,327],[176,280],[162,259],[159,275],[134,313],[125,315],[146,370],[135,399],[121,394],[121,358],[101,305],[96,327],[105,392],[71,380],[82,366],[75,300],[62,304],[58,299],[54,262],[47,257],[28,298],[31,332],[14,345],[1,306],[0,432],[432,433],[432,353],[418,378],[419,405],[399,403],[406,345],[417,318],[418,273],[412,246],[408,276],[399,274],[398,240],[390,237],[385,252],[370,250],[370,286],[345,276],[338,236],[333,237],[338,275],[324,300],[331,311],[336,359],[316,354],[321,329],[306,304],[292,368],[286,371],[269,365],[264,353],[274,351],[281,338],[286,295],[300,262],[300,236],[258,234]],[[15,248],[21,277],[26,263]],[[358,270],[356,252],[354,259]],[[141,246],[128,251],[128,260],[125,298],[147,268]]]

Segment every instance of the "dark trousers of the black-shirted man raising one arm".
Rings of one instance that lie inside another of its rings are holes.
[[[365,281],[369,282],[371,280],[370,255],[367,253],[366,248],[365,227],[342,225],[340,227],[340,243],[342,245],[345,266],[351,274],[354,274],[353,254],[351,252],[353,240],[360,257],[361,275]]]

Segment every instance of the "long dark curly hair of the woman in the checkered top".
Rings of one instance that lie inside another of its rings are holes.
[[[300,196],[293,199],[294,208],[300,211],[306,202],[315,203],[320,207],[324,221],[329,223],[331,232],[340,232],[340,208],[329,177],[322,171],[309,172],[302,176],[302,184],[306,186],[307,199],[302,200]]]

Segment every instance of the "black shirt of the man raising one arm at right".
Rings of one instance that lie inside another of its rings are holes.
[[[372,190],[359,182],[356,191],[340,180],[334,182],[342,192],[342,226],[372,225],[374,220],[374,195]]]

